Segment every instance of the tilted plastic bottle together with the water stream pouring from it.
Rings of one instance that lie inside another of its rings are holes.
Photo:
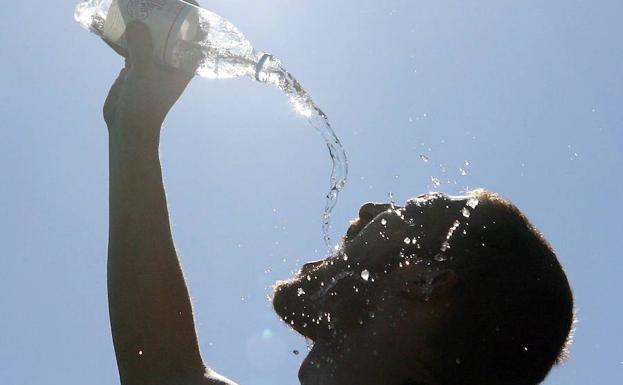
[[[134,20],[147,26],[154,60],[210,79],[245,76],[281,89],[294,110],[325,141],[333,169],[322,216],[325,243],[331,251],[331,212],[346,183],[348,162],[327,115],[274,56],[256,51],[227,19],[182,0],[84,0],[75,18],[85,29],[127,49],[125,28]]]

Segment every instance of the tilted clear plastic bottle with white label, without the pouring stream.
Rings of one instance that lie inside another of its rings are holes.
[[[207,78],[254,76],[261,58],[228,20],[181,0],[86,0],[75,17],[122,48],[126,26],[138,20],[150,31],[154,60]]]

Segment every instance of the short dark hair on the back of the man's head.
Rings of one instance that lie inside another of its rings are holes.
[[[564,357],[573,295],[549,243],[512,203],[477,190],[448,267],[460,311],[439,333],[433,362],[444,384],[538,384]]]

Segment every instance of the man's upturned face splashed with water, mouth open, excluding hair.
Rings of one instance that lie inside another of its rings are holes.
[[[437,322],[441,302],[431,301],[433,278],[443,275],[453,246],[460,248],[477,205],[472,195],[439,193],[404,207],[366,203],[335,255],[276,285],[275,310],[314,342],[301,368],[303,384],[374,383],[369,375],[355,382],[352,370],[340,378],[340,367],[386,369],[404,361],[390,357],[407,354]]]

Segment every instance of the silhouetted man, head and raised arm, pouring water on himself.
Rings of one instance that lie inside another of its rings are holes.
[[[233,384],[201,358],[158,154],[162,123],[192,76],[154,64],[141,23],[126,36],[126,66],[104,106],[121,383]],[[549,244],[484,190],[364,204],[339,251],[277,283],[273,305],[314,342],[303,385],[537,384],[561,359],[573,323],[571,289]]]

